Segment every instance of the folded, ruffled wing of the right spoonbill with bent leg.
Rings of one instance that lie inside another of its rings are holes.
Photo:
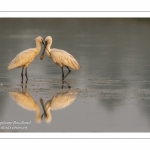
[[[69,53],[63,50],[54,50],[51,53],[51,58],[60,67],[68,66],[72,69],[79,70],[80,65],[77,60]]]

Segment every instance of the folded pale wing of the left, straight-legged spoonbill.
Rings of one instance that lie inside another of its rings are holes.
[[[35,51],[32,49],[19,53],[9,64],[8,69],[13,69],[30,64],[35,57]]]

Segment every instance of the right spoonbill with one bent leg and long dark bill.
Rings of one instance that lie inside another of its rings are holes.
[[[45,38],[45,46],[40,59],[42,60],[44,58],[44,52],[46,50],[47,56],[51,57],[54,63],[56,63],[58,66],[61,67],[62,80],[64,80],[67,77],[67,75],[71,72],[70,68],[74,70],[80,69],[79,63],[71,54],[61,49],[50,48],[51,45],[52,45],[52,37],[47,36]],[[66,75],[64,75],[63,67],[66,67],[68,69],[68,73]]]

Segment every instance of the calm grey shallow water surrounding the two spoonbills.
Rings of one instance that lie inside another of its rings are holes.
[[[0,32],[2,132],[150,131],[149,19],[9,18],[0,19]],[[29,66],[26,87],[21,69],[7,70],[39,35],[51,35],[53,48],[68,51],[80,63],[81,70],[66,78],[71,89],[67,84],[62,89],[61,69],[46,56],[41,61],[38,55]],[[74,99],[64,102],[66,93],[75,93]],[[51,100],[49,122],[40,99],[44,105]],[[40,122],[33,106],[43,115]]]

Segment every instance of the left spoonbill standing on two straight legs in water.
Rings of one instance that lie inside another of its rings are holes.
[[[34,60],[34,58],[40,53],[41,43],[44,45],[43,38],[41,36],[38,36],[35,39],[35,43],[36,43],[35,48],[29,48],[27,50],[20,52],[10,62],[9,66],[8,66],[8,70],[22,67],[22,73],[21,73],[22,82],[21,83],[23,83],[23,70],[24,70],[24,68],[25,68],[26,83],[28,82],[27,68],[30,65],[30,63]]]

